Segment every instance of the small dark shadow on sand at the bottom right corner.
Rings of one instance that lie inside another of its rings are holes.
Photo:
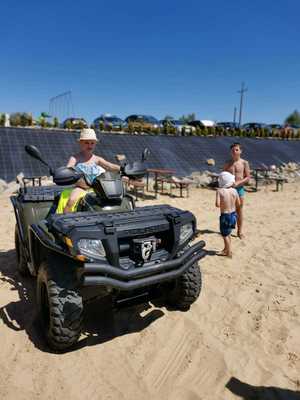
[[[243,400],[300,400],[300,391],[252,386],[234,377],[227,382],[226,388]]]

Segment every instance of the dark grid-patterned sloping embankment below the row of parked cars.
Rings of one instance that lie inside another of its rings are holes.
[[[49,175],[47,167],[25,153],[24,146],[37,146],[53,167],[66,165],[78,152],[78,132],[25,128],[0,128],[0,179],[12,181],[23,172],[25,176]],[[229,147],[235,141],[243,146],[244,157],[251,168],[280,165],[289,161],[300,163],[299,140],[273,140],[234,137],[180,137],[165,135],[98,134],[95,153],[115,162],[116,154],[125,154],[132,162],[141,158],[147,147],[151,155],[149,168],[172,168],[178,176],[194,171],[219,171],[229,157]],[[213,158],[215,166],[207,159]]]

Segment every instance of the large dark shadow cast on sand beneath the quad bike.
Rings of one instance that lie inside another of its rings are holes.
[[[0,308],[0,319],[14,331],[25,330],[39,350],[55,353],[47,346],[37,318],[35,279],[20,276],[16,262],[14,250],[0,252],[0,282],[8,283],[10,290],[17,291],[19,297]],[[140,332],[163,315],[162,310],[154,309],[149,303],[116,311],[108,298],[94,301],[85,306],[82,339],[68,352]]]

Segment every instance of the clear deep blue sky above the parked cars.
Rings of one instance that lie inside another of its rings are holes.
[[[299,0],[1,4],[0,112],[282,122],[300,109]],[[69,103],[69,110],[71,110]],[[67,112],[67,102],[57,105]]]

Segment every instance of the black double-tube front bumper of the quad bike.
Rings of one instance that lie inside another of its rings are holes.
[[[178,258],[161,263],[148,263],[130,270],[116,268],[106,261],[85,263],[82,271],[83,286],[109,286],[126,291],[170,281],[181,276],[205,256],[204,246],[205,242],[200,241]]]

